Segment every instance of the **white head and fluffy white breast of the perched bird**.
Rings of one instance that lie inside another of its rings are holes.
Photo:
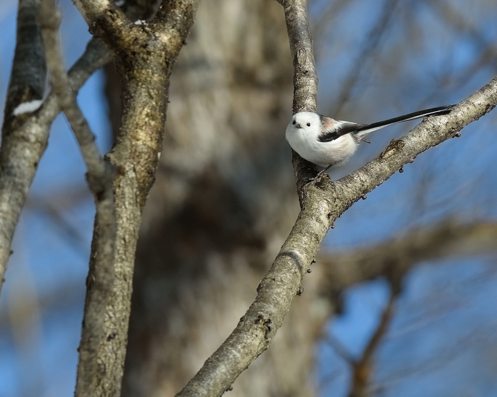
[[[296,120],[303,128],[296,128]],[[311,127],[307,127],[307,123]],[[354,154],[357,143],[350,134],[345,134],[330,142],[321,142],[321,120],[318,114],[297,113],[286,129],[286,139],[290,146],[306,160],[328,167],[330,164],[344,163]]]

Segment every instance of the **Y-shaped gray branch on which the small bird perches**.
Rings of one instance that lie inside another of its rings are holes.
[[[282,0],[289,25],[290,48],[295,59],[295,43],[305,54],[305,62],[314,64],[305,1]],[[304,57],[300,57],[301,60]],[[297,52],[297,66],[299,61]],[[304,69],[315,81],[314,68]],[[301,91],[300,81],[309,75],[295,68],[294,112],[313,110],[316,91],[313,85]],[[298,75],[297,75],[298,74]],[[303,92],[303,94],[301,94]],[[314,99],[313,99],[314,98]],[[335,183],[322,179],[305,184],[313,167],[294,153],[294,169],[301,212],[279,254],[257,288],[257,297],[247,313],[223,344],[209,357],[200,371],[179,392],[179,396],[221,396],[235,379],[270,344],[290,309],[293,298],[301,293],[300,282],[332,226],[346,209],[362,196],[381,185],[418,154],[444,140],[459,136],[459,131],[492,110],[497,103],[497,79],[454,108],[451,114],[422,122],[360,170]],[[315,175],[315,174],[314,174]]]

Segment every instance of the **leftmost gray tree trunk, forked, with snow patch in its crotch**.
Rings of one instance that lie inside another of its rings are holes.
[[[129,18],[144,15],[143,6],[133,1],[129,3],[125,4]],[[0,292],[14,231],[38,163],[45,152],[50,126],[60,112],[55,95],[51,93],[37,111],[16,117],[12,115],[17,105],[41,99],[43,94],[46,66],[40,32],[35,23],[36,8],[35,1],[19,2],[22,14],[19,15],[16,52],[3,118],[0,148]],[[110,59],[100,42],[91,39],[84,54],[68,72],[71,89],[76,93],[89,76]],[[28,85],[23,86],[21,79],[26,79]],[[30,84],[33,85],[31,88]]]

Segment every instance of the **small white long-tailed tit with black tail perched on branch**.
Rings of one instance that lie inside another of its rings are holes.
[[[286,128],[290,146],[306,160],[326,167],[318,177],[333,165],[342,165],[357,150],[360,141],[370,143],[365,136],[392,124],[449,113],[455,105],[439,106],[373,124],[356,124],[333,120],[312,112],[293,115]]]

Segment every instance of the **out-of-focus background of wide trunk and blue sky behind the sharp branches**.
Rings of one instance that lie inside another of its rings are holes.
[[[61,5],[72,64],[89,34],[72,4]],[[309,11],[319,111],[336,119],[369,123],[455,103],[496,74],[491,1],[314,0]],[[2,100],[14,34],[7,0]],[[292,90],[280,4],[201,2],[171,77],[164,151],[144,210],[123,396],[174,395],[255,297],[298,213],[284,140]],[[112,66],[79,96],[104,150],[118,128],[118,98]],[[409,128],[373,134],[331,178]],[[232,396],[496,395],[494,130],[491,113],[335,222],[304,293]],[[0,396],[74,388],[94,210],[83,174],[59,118],[7,271]]]

